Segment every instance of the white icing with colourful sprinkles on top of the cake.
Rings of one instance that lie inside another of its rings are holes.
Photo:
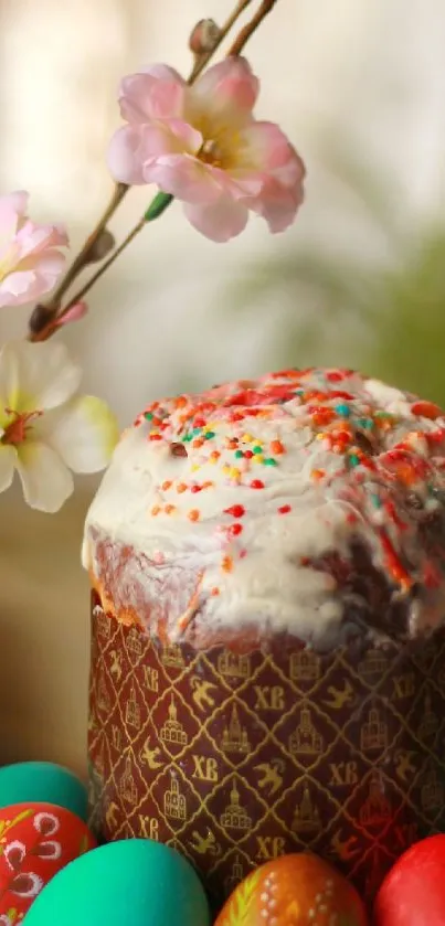
[[[109,540],[116,555],[128,545],[137,554],[126,571],[128,605],[137,607],[142,596],[156,609],[162,571],[178,570],[184,579],[201,578],[193,602],[198,634],[201,625],[215,632],[255,625],[331,645],[345,620],[345,589],[319,561],[335,552],[350,562],[358,540],[388,581],[392,602],[421,587],[421,598],[406,605],[406,629],[415,635],[435,625],[444,608],[444,557],[425,550],[421,524],[443,509],[445,419],[438,409],[435,419],[420,416],[413,403],[375,380],[319,370],[161,401],[149,409],[155,423],[141,415],[115,451],[88,512],[84,565],[99,577],[97,541]],[[433,414],[427,404],[421,411]],[[187,440],[193,416],[198,428]],[[276,441],[284,453],[276,453]],[[173,455],[172,443],[187,456]],[[394,447],[401,459],[386,457]],[[171,603],[172,639],[183,630],[191,587],[184,581]],[[350,599],[354,594],[349,589]]]

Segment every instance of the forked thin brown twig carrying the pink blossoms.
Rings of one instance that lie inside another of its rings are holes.
[[[188,84],[191,86],[200,76],[204,67],[208,65],[210,60],[214,56],[215,52],[227,36],[230,31],[232,30],[235,22],[240,19],[244,10],[251,6],[253,0],[239,0],[236,3],[233,12],[227,18],[225,23],[221,26],[216,41],[214,42],[211,50],[205,52],[204,54],[197,57],[190,76],[188,78]],[[244,49],[246,42],[251,38],[251,35],[256,31],[258,25],[265,19],[267,13],[271,12],[272,8],[275,6],[277,0],[263,0],[259,9],[255,13],[254,17],[246,23],[246,25],[240,31],[239,35],[236,36],[234,43],[231,45],[227,56],[235,56],[240,55],[242,50]],[[80,302],[84,296],[89,291],[89,289],[94,286],[95,283],[105,274],[108,267],[115,263],[115,260],[120,256],[120,254],[128,247],[128,245],[134,241],[134,238],[142,231],[142,228],[147,224],[147,214],[139,220],[139,222],[135,225],[135,227],[129,232],[129,234],[124,238],[121,244],[113,252],[113,254],[105,260],[104,264],[98,267],[95,274],[85,283],[81,289],[78,289],[75,295],[70,299],[67,305],[61,310],[61,299],[65,295],[66,290],[71,286],[71,284],[76,279],[78,274],[87,266],[88,264],[88,255],[92,252],[95,243],[99,238],[100,234],[106,228],[107,223],[109,222],[110,217],[116,212],[116,209],[123,201],[125,194],[128,191],[128,187],[125,183],[117,183],[114,195],[105,210],[104,214],[102,215],[98,224],[96,225],[94,232],[89,235],[87,241],[85,242],[82,251],[78,253],[77,257],[73,262],[72,266],[70,267],[67,274],[59,285],[57,289],[54,291],[51,300],[46,304],[46,306],[42,306],[41,308],[45,312],[43,317],[43,323],[40,329],[36,331],[32,331],[29,336],[29,340],[33,342],[38,341],[46,341],[60,327],[60,321],[63,317],[70,311],[70,309],[76,304]],[[151,205],[156,201],[152,201]],[[151,205],[148,212],[151,209]],[[163,211],[163,210],[162,210]],[[157,217],[157,216],[155,216]],[[148,220],[150,221],[150,220]]]

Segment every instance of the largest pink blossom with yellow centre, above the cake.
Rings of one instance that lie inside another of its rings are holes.
[[[254,118],[258,89],[239,57],[209,68],[192,87],[166,65],[125,77],[127,125],[112,139],[112,173],[181,200],[191,224],[213,241],[239,235],[250,210],[283,232],[301,203],[305,168],[278,126]]]

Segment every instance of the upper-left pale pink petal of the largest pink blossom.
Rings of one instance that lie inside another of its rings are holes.
[[[179,118],[186,83],[172,67],[157,65],[142,74],[130,74],[120,84],[121,117],[131,124]]]

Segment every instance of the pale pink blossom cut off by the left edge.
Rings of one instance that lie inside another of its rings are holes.
[[[28,193],[0,196],[0,308],[40,299],[63,269],[68,244],[59,225],[36,225],[27,215]]]

